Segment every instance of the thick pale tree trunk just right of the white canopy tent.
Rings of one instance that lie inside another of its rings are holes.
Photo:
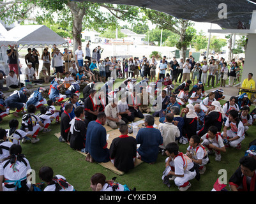
[[[67,3],[68,8],[73,14],[73,53],[77,50],[79,45],[82,45],[81,33],[82,33],[82,21],[84,15],[86,15],[86,8],[79,7],[76,2],[69,1]]]

